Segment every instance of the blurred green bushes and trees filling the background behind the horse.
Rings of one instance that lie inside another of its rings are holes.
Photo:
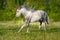
[[[13,20],[16,9],[21,5],[44,10],[51,21],[60,21],[60,0],[0,0],[0,21]]]

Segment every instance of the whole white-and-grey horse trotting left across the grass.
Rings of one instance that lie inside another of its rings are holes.
[[[24,24],[22,27],[18,30],[20,32],[25,26],[27,26],[27,33],[29,33],[29,23],[31,22],[39,22],[39,30],[42,28],[42,22],[44,23],[44,30],[46,31],[46,24],[48,24],[48,15],[43,10],[34,10],[29,6],[22,5],[18,7],[16,11],[16,17],[19,17],[20,15],[23,15],[25,18]]]

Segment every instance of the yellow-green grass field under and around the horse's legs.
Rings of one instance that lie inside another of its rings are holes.
[[[30,33],[24,28],[17,31],[23,22],[0,22],[0,40],[60,40],[60,22],[52,22],[47,25],[47,31],[39,31],[39,23],[30,24]]]

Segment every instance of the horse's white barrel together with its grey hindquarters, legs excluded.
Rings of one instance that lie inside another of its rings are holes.
[[[42,10],[37,10],[34,12],[32,18],[31,18],[31,22],[35,22],[35,21],[46,21],[47,20],[47,14],[45,11]]]

